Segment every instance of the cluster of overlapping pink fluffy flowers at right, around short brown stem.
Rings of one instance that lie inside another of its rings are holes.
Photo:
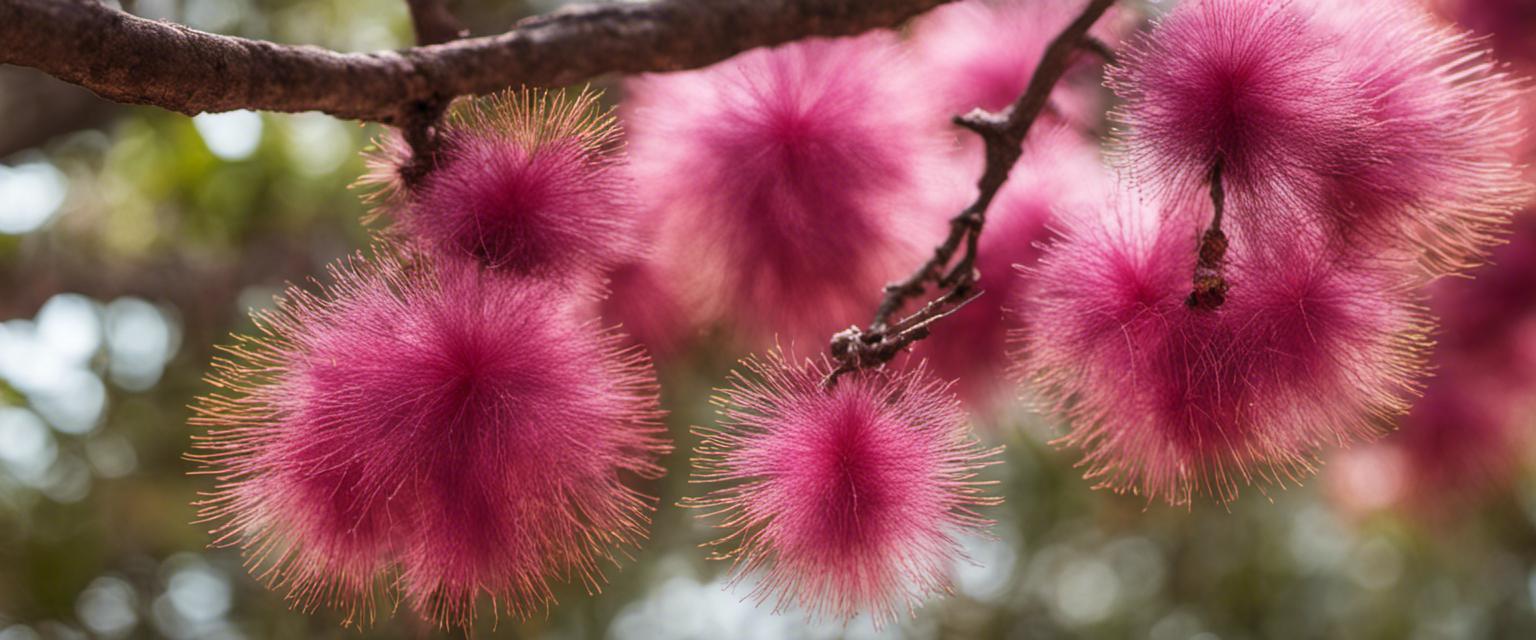
[[[1180,5],[1109,78],[1121,193],[1028,270],[1017,350],[1087,476],[1226,502],[1405,413],[1419,287],[1528,196],[1514,81],[1421,9],[1247,0]]]

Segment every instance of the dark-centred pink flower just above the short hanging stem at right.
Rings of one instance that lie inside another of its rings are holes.
[[[1124,163],[1164,192],[1197,189],[1221,161],[1238,233],[1316,210],[1318,176],[1364,163],[1364,97],[1307,12],[1287,2],[1192,0],[1135,38],[1107,72],[1126,100]]]

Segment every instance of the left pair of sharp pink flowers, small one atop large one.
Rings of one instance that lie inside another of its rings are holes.
[[[384,589],[442,626],[468,628],[481,597],[525,617],[645,537],[633,480],[670,444],[650,359],[588,299],[639,250],[594,107],[470,104],[413,176],[387,140],[370,180],[398,224],[373,256],[290,287],[215,361],[192,421],[218,479],[200,514],[295,606],[361,625]]]

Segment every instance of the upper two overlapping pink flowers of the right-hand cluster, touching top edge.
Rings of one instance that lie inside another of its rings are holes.
[[[1392,0],[1181,5],[1126,52],[1127,166],[1164,192],[1221,167],[1238,235],[1298,226],[1353,259],[1476,264],[1530,195],[1514,83]]]

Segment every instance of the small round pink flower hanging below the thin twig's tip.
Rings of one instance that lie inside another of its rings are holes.
[[[975,479],[995,460],[958,401],[922,368],[857,371],[822,387],[823,359],[777,351],[743,361],[722,391],[723,421],[699,428],[694,480],[713,487],[690,506],[727,533],[711,545],[733,583],[776,611],[871,614],[876,625],[949,592],[955,539],[991,525]]]

